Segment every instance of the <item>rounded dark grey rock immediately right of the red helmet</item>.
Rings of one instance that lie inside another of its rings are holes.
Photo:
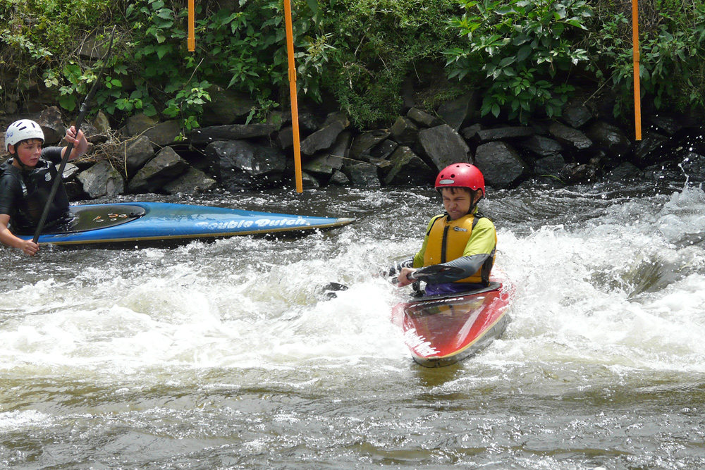
[[[475,164],[482,171],[485,183],[498,189],[520,183],[527,171],[527,164],[514,147],[506,142],[479,145],[475,152]]]

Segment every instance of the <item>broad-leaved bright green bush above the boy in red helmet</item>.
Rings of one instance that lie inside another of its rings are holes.
[[[450,25],[465,39],[448,49],[449,76],[470,77],[486,89],[482,115],[527,122],[538,109],[559,116],[574,87],[568,73],[587,61],[579,47],[592,17],[583,0],[510,0],[458,2],[465,10]]]

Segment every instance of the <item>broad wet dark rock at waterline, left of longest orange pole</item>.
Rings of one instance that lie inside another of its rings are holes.
[[[244,140],[213,142],[206,155],[215,162],[216,178],[227,190],[281,187],[286,156],[278,149]]]

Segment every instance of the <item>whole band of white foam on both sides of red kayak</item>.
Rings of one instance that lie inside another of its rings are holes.
[[[389,199],[384,194],[369,204],[384,208]],[[599,207],[598,216],[568,218],[528,235],[498,221],[498,266],[517,287],[513,323],[475,362],[530,357],[705,370],[699,352],[705,257],[701,245],[680,244],[703,226],[702,190]],[[384,214],[373,227],[387,223]],[[393,238],[352,226],[335,239],[243,237],[143,249],[84,266],[75,276],[39,280],[0,294],[7,306],[0,368],[403,361],[398,332],[388,322],[398,293],[376,273],[412,254],[422,230]],[[331,280],[352,288],[323,302],[317,287]]]

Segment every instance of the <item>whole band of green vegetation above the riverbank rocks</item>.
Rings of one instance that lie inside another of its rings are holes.
[[[475,88],[482,113],[554,117],[577,91],[632,106],[631,4],[615,0],[292,0],[300,100],[336,101],[359,127],[388,125],[405,84],[431,107]],[[642,92],[658,107],[705,106],[705,1],[640,5]],[[0,109],[35,99],[74,112],[102,66],[96,109],[198,125],[212,85],[250,94],[250,120],[288,106],[280,0],[4,0]]]

